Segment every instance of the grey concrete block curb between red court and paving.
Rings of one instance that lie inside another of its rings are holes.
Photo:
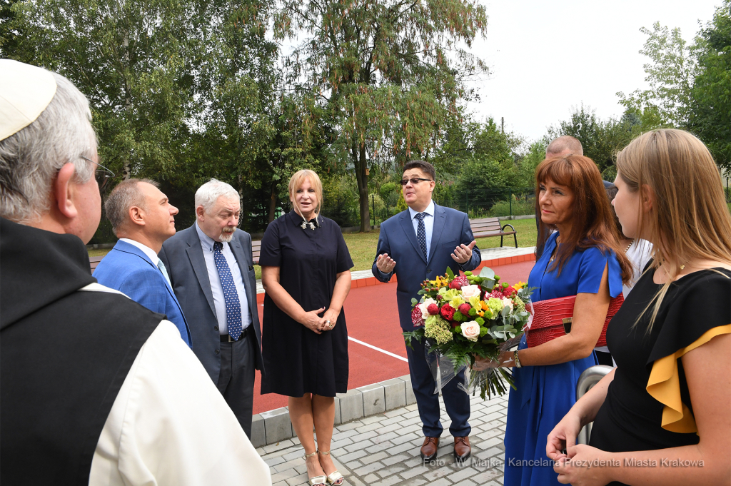
[[[338,393],[335,398],[335,425],[412,403],[416,403],[416,397],[409,375],[368,384],[347,393]],[[276,444],[295,436],[286,406],[256,414],[251,422],[251,445],[254,447]]]

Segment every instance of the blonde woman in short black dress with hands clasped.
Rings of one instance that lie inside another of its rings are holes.
[[[342,309],[353,262],[340,227],[319,215],[322,183],[317,173],[292,175],[289,200],[292,210],[269,224],[259,257],[266,291],[262,394],[289,396],[289,418],[305,449],[310,484],[338,486],[343,476],[330,458],[330,440],[334,397],[348,391]]]

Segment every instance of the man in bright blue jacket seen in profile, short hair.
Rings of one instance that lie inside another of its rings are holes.
[[[94,277],[99,284],[165,314],[191,346],[188,323],[170,286],[167,269],[157,257],[162,243],[175,235],[173,216],[178,209],[170,205],[154,181],[128,179],[111,192],[105,211],[119,241],[99,262]]]

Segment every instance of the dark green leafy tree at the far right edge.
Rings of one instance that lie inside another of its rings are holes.
[[[708,145],[716,163],[731,169],[731,1],[716,10],[698,37],[698,74],[689,129]]]

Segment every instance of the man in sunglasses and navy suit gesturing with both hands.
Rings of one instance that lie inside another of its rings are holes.
[[[404,165],[401,186],[409,209],[398,213],[381,224],[377,257],[373,274],[387,282],[392,275],[398,277],[396,301],[401,329],[414,330],[412,324],[412,298],[426,279],[444,275],[447,267],[456,274],[459,270],[474,270],[480,265],[480,248],[475,246],[469,219],[465,213],[442,208],[431,200],[435,182],[434,167],[428,162],[412,161]],[[474,251],[473,251],[474,249]],[[398,265],[396,264],[398,262]],[[412,340],[412,348],[406,346],[409,372],[416,395],[419,415],[423,422],[424,444],[421,457],[433,460],[442,435],[439,422],[439,395],[434,394],[435,382],[426,361],[423,343]],[[450,433],[455,438],[455,459],[469,457],[469,395],[457,385],[463,381],[464,371],[442,388],[444,406],[452,424]]]

